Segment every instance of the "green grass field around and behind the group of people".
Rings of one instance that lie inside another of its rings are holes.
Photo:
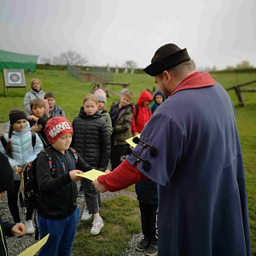
[[[43,90],[45,92],[51,91],[55,94],[57,99],[56,103],[65,110],[67,113],[67,119],[73,121],[73,118],[79,113],[79,108],[82,106],[84,96],[90,93],[90,83],[79,81],[66,71],[38,70],[36,73],[33,73],[32,76],[26,74],[26,84],[29,84],[30,80],[34,77],[42,81]],[[215,73],[212,74],[212,77],[222,84],[224,88],[228,88],[236,83],[240,84],[242,82],[256,79],[256,73]],[[142,90],[146,90],[147,88],[152,90],[152,88],[156,85],[154,84],[154,78],[151,78],[146,74],[114,74],[114,82],[131,84],[129,89],[134,93],[133,102],[137,102],[137,98]],[[0,76],[0,84],[3,84],[3,75]],[[255,87],[256,84],[247,85],[247,88]],[[9,119],[8,113],[11,108],[23,108],[25,89],[9,89],[9,96],[5,97],[3,85],[1,88],[0,122],[5,122]],[[29,85],[27,86],[27,89],[30,90]],[[119,92],[122,88],[116,85],[109,85],[109,89]],[[241,140],[241,148],[247,177],[247,198],[251,226],[252,255],[256,255],[256,94],[243,93],[247,107],[242,108],[238,105],[235,91],[229,90],[228,93],[236,108],[236,121]],[[118,97],[110,96],[108,98],[107,109],[109,110],[112,102],[117,101]],[[122,198],[121,201],[126,201],[126,199]],[[113,205],[115,203],[117,202],[114,201]],[[122,202],[118,201],[118,203]],[[136,207],[136,202],[129,201],[129,206]],[[106,202],[105,207],[106,210],[102,210],[102,216],[106,216],[106,218],[108,218],[108,212],[112,207],[108,207],[108,202]],[[121,212],[120,208],[121,207],[117,207],[114,209],[114,211]],[[111,218],[111,220],[109,219],[108,227],[111,229],[111,225],[116,227],[120,223],[120,226],[117,228],[119,232],[116,234],[110,232],[107,227],[106,231],[103,231],[102,234],[97,236],[97,238],[93,241],[91,241],[91,238],[87,234],[89,232],[89,224],[84,224],[82,227],[80,226],[78,236],[74,242],[73,255],[81,255],[79,247],[86,247],[86,249],[83,251],[83,255],[93,255],[90,253],[91,251],[89,250],[89,247],[93,251],[98,250],[98,247],[101,245],[103,245],[104,250],[98,254],[96,253],[95,255],[119,255],[114,254],[114,252],[120,252],[121,249],[127,246],[127,241],[129,240],[131,234],[139,232],[139,228],[137,227],[137,224],[139,224],[138,219],[132,218],[132,221],[135,221],[136,224],[131,223],[126,225],[126,221],[129,223],[127,219],[119,218],[119,214],[116,214],[113,218]],[[133,224],[136,225],[134,230],[131,229],[131,225]],[[86,230],[87,233],[82,233],[81,230]],[[116,238],[115,236],[122,237],[122,240],[119,242],[115,241],[116,247],[113,249],[111,239],[113,239],[113,237]],[[85,245],[87,242],[89,242],[88,247]],[[90,252],[88,251],[88,254],[84,254],[87,253],[87,250]]]

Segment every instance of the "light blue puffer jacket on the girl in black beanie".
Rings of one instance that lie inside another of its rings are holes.
[[[4,134],[4,139],[9,143],[9,134]],[[5,154],[9,159],[9,164],[12,169],[15,166],[23,167],[24,163],[29,163],[34,160],[38,153],[44,149],[43,143],[41,142],[38,134],[36,134],[36,144],[35,147],[32,147],[32,133],[30,131],[30,125],[26,122],[26,128],[23,131],[13,131],[11,137],[11,143],[13,147],[13,159],[9,158],[6,154],[6,150],[3,148],[2,143],[0,143],[0,151]],[[20,175],[14,173],[15,180],[21,180]]]

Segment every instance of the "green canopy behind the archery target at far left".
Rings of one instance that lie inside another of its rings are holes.
[[[21,55],[0,49],[0,71],[3,69],[24,69],[36,71],[39,55]]]

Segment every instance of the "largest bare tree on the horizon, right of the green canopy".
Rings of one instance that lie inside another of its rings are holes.
[[[67,52],[62,52],[59,56],[53,57],[52,62],[57,65],[84,65],[88,61],[79,53],[68,50]]]

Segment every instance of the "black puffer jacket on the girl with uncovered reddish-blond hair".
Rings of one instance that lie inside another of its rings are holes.
[[[86,115],[84,107],[79,116],[73,119],[72,147],[94,168],[107,169],[110,158],[110,137],[106,122],[96,112]]]

